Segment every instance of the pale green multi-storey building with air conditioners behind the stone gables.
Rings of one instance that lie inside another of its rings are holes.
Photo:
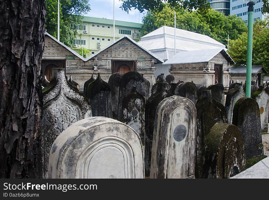
[[[74,27],[79,33],[74,41],[75,48],[84,47],[90,50],[90,55],[113,43],[113,20],[111,19],[84,16],[83,27],[81,25],[74,25]],[[115,20],[115,41],[124,35],[138,41],[141,27],[142,24],[139,23]]]

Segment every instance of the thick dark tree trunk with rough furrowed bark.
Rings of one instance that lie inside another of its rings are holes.
[[[0,0],[0,177],[38,177],[44,0]]]

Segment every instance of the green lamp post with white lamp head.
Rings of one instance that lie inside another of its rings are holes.
[[[246,97],[250,97],[251,87],[251,67],[252,67],[252,36],[253,36],[253,6],[257,0],[244,0],[248,8],[248,47],[247,47],[247,77],[246,77]]]

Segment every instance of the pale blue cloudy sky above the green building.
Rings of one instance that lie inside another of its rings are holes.
[[[90,12],[86,14],[89,17],[99,17],[113,19],[113,0],[89,0]],[[142,17],[146,11],[139,13],[137,9],[129,10],[129,14],[119,8],[121,1],[115,0],[115,20],[142,23]]]

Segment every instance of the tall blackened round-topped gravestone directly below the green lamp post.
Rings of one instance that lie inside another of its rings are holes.
[[[246,159],[263,155],[260,109],[256,100],[240,98],[234,105],[233,124],[242,133]]]

